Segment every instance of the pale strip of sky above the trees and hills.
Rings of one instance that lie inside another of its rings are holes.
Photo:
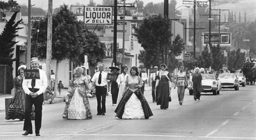
[[[4,2],[8,2],[8,0],[0,0]],[[14,0],[20,5],[28,5],[28,0]],[[119,0],[118,0],[119,1]],[[144,6],[148,3],[161,3],[164,2],[164,0],[140,0],[144,3]],[[96,5],[102,4],[102,0],[94,0]],[[126,0],[125,3],[133,3],[135,0]],[[182,4],[182,0],[176,0],[178,5]],[[76,5],[76,3],[79,3],[81,5],[88,5],[89,0],[53,0],[53,9],[58,8],[60,5],[66,4],[66,5]],[[35,5],[34,7],[39,7],[44,10],[48,9],[48,0],[31,0],[31,5]]]

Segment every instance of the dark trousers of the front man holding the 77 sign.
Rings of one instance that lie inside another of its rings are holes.
[[[44,94],[40,94],[35,98],[32,98],[30,95],[26,94],[25,99],[25,121],[23,130],[32,130],[32,122],[30,114],[32,111],[32,105],[35,106],[35,133],[39,134],[42,122],[42,102],[44,101]]]

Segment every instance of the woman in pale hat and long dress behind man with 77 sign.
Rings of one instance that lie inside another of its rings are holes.
[[[22,82],[24,79],[24,70],[26,65],[18,67],[18,76],[14,78],[14,95],[12,97],[12,103],[8,107],[6,120],[19,119],[20,121],[25,118],[25,97],[26,94],[22,88]]]

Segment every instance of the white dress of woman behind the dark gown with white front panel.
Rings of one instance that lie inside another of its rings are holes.
[[[123,75],[123,73],[121,73],[117,77],[116,82],[117,82],[117,85],[119,87],[118,96],[117,96],[117,104],[122,99],[123,90],[124,90],[124,86],[125,86],[125,80],[126,80],[127,76],[129,76],[129,74],[126,73],[125,75]]]

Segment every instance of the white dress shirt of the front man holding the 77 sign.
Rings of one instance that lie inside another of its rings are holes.
[[[47,83],[46,72],[41,69],[38,69],[38,70],[39,70],[39,74],[40,74],[40,79],[35,79],[35,87],[34,88],[39,89],[36,93],[38,95],[40,95],[45,92],[45,90],[48,86],[48,83]],[[25,93],[28,95],[31,93],[31,91],[29,90],[29,88],[32,88],[31,81],[32,81],[32,79],[24,79],[23,83],[22,83],[22,88],[25,91]]]

